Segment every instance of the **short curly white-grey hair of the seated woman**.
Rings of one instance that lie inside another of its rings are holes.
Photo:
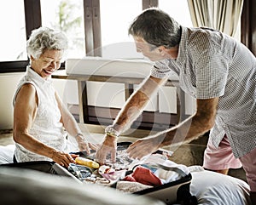
[[[26,52],[28,57],[38,59],[47,49],[63,50],[67,49],[67,37],[61,31],[55,31],[48,27],[39,27],[32,31],[26,42]]]

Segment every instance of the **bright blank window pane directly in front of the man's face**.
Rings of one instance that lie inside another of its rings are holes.
[[[128,36],[131,21],[143,10],[137,0],[102,0],[102,57],[104,58],[143,58],[136,52],[132,37]]]

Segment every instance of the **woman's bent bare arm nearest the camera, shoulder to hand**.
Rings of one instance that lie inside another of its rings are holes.
[[[14,140],[16,143],[24,146],[27,150],[45,157],[67,167],[73,158],[55,148],[45,145],[35,139],[29,132],[32,128],[32,122],[36,117],[38,110],[38,97],[36,88],[32,84],[25,84],[20,88],[15,100],[14,110]]]

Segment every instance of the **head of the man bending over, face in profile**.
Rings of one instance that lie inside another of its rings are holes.
[[[181,26],[160,9],[146,9],[129,27],[137,52],[149,60],[177,58],[181,38]]]

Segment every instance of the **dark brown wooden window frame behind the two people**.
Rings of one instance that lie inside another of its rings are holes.
[[[158,7],[158,0],[142,0],[143,9]],[[241,43],[244,43],[256,55],[256,1],[244,2],[241,14]],[[40,0],[24,0],[26,39],[33,29],[42,26]],[[102,56],[102,34],[100,18],[100,0],[84,0],[84,36],[86,55]],[[94,52],[95,51],[95,52]],[[0,73],[23,72],[29,60],[0,61]],[[65,69],[65,63],[60,69]]]

